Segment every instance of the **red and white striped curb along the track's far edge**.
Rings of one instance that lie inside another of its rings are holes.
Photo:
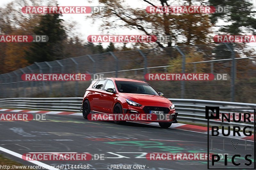
[[[49,115],[77,115],[82,116],[81,112],[60,112],[60,111],[40,111],[40,110],[13,110],[13,109],[1,109],[0,111],[4,112],[20,112],[20,113],[39,113],[39,114],[49,114]],[[137,121],[139,122],[139,121]],[[146,123],[146,124],[152,124],[152,125],[158,125],[156,122],[140,122],[140,123]],[[207,127],[204,126],[198,126],[198,125],[189,125],[189,124],[183,124],[183,123],[174,123],[172,124],[171,128],[174,129],[182,129],[182,130],[189,130],[194,132],[200,132],[207,134]],[[221,134],[221,129],[219,129],[219,132]],[[228,130],[224,130],[224,133],[227,134]],[[244,140],[254,140],[254,135],[252,136],[245,136],[243,133],[240,133],[241,136],[237,136],[234,138],[238,139],[244,139]],[[220,135],[221,136],[221,135]]]

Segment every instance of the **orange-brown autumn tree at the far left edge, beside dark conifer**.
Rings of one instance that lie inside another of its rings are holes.
[[[38,5],[38,1],[31,0],[31,5]],[[23,14],[20,9],[26,6],[25,1],[15,1],[0,8],[1,35],[31,35],[33,28],[39,21],[35,14]],[[27,66],[25,51],[31,43],[0,43],[0,73],[10,72]]]

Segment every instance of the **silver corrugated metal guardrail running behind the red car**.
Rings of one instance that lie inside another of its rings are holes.
[[[0,108],[20,108],[20,109],[37,109],[52,111],[74,111],[80,112],[83,98],[9,98],[0,99]],[[178,121],[196,124],[207,124],[205,119],[205,106],[219,106],[220,108],[229,108],[236,110],[221,110],[222,113],[244,112],[241,108],[256,108],[256,104],[225,102],[214,100],[195,100],[195,99],[169,99],[175,104],[176,112],[179,113]],[[239,110],[237,110],[239,109]],[[253,113],[253,112],[251,112]],[[210,120],[216,125],[235,124],[234,122],[221,122]],[[240,126],[248,124],[240,123]],[[252,124],[250,124],[252,126]]]

